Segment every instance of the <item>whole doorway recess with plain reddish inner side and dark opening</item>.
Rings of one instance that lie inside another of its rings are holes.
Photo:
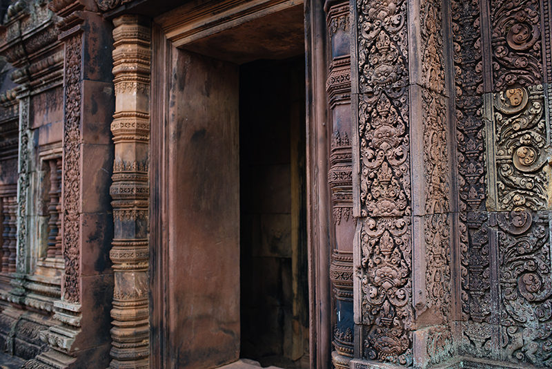
[[[248,21],[213,12],[199,28],[186,26],[205,14],[193,6],[156,19],[171,40],[154,53],[170,70],[158,84],[168,238],[154,276],[166,296],[152,306],[167,343],[157,365],[308,368],[303,4],[276,1]]]

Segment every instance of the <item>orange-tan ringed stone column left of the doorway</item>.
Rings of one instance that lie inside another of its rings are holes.
[[[110,368],[149,367],[148,142],[150,26],[134,15],[113,21],[115,163],[111,197],[115,272]]]

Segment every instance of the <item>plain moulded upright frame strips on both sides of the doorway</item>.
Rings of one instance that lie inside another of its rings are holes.
[[[331,363],[331,286],[327,183],[326,19],[324,4],[305,0],[306,198],[311,369]],[[172,41],[152,24],[150,96],[150,368],[170,368],[168,316],[168,111]]]

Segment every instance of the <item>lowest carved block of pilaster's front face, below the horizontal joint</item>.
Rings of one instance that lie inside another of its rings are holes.
[[[368,326],[365,356],[409,366],[413,315],[409,218],[366,219],[361,247],[362,319]]]

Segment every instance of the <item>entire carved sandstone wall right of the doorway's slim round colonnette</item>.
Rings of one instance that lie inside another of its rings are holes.
[[[358,368],[551,365],[550,11],[356,1]]]

